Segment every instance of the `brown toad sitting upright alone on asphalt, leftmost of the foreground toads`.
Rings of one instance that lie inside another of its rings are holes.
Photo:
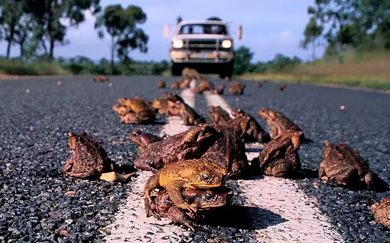
[[[80,135],[68,132],[71,157],[62,171],[78,178],[99,178],[102,173],[113,170],[113,162],[107,157],[103,147],[83,132]]]

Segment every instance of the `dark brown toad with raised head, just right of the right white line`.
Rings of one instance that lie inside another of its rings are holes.
[[[300,135],[301,132],[290,132],[267,143],[257,158],[261,172],[284,178],[294,175],[294,172],[301,168],[297,151]]]

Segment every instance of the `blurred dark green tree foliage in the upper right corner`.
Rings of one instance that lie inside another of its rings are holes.
[[[390,1],[316,0],[308,7],[311,16],[304,31],[302,48],[322,36],[328,53],[341,47],[386,48],[390,33]]]

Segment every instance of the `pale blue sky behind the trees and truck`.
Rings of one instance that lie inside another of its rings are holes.
[[[243,25],[243,39],[236,40],[235,46],[248,46],[254,56],[252,62],[272,60],[275,54],[298,56],[311,60],[311,49],[299,48],[303,30],[309,20],[307,7],[314,0],[101,0],[103,7],[121,4],[127,7],[134,4],[147,14],[147,22],[142,26],[149,35],[148,53],[136,50],[130,53],[135,60],[168,60],[170,40],[163,38],[163,26],[170,25],[170,32],[176,24],[177,16],[183,20],[206,19],[218,16],[231,22],[231,34],[236,38],[239,25]],[[54,56],[88,56],[92,60],[110,58],[110,39],[100,40],[94,29],[95,17],[86,12],[86,20],[78,28],[68,28],[66,38],[70,44],[54,49]],[[5,56],[7,44],[0,42],[0,55]],[[20,55],[19,46],[11,48],[11,56]],[[324,52],[316,48],[316,57]]]

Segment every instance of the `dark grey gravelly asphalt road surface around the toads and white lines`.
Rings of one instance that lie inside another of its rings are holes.
[[[122,96],[161,97],[171,91],[157,89],[161,79],[169,87],[180,78],[110,77],[107,83],[94,83],[92,77],[0,80],[0,242],[101,241],[103,228],[113,221],[113,213],[131,187],[60,173],[70,155],[66,133],[85,130],[103,142],[112,160],[131,165],[138,152],[128,143],[128,132],[146,127],[158,134],[161,125],[119,123],[112,105]],[[211,81],[215,85],[227,83]],[[264,83],[261,88],[250,81],[244,83],[245,95],[223,97],[230,107],[251,113],[265,129],[266,122],[257,115],[263,106],[281,111],[296,122],[310,139],[299,150],[303,169],[318,169],[325,140],[345,141],[369,160],[371,170],[383,183],[389,183],[390,95],[294,84],[277,92],[273,83]],[[346,108],[340,110],[340,106]],[[195,96],[195,110],[207,118],[204,95]],[[353,191],[323,184],[317,178],[295,182],[317,198],[317,206],[347,242],[390,241],[389,232],[374,222],[368,209],[390,192]],[[314,182],[319,188],[313,187]],[[235,182],[230,183],[234,187]],[[64,196],[70,190],[78,197]],[[60,229],[66,229],[69,238],[55,232]],[[231,242],[236,242],[252,238],[255,232],[229,228],[223,234],[230,234]],[[204,242],[206,234],[199,235],[197,242]]]

